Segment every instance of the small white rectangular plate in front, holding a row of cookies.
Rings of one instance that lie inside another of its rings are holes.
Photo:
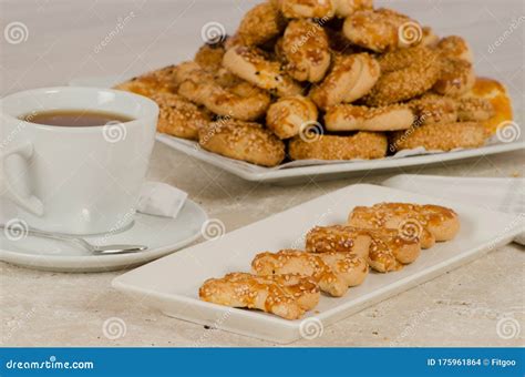
[[[316,312],[307,313],[300,320],[199,300],[198,287],[206,278],[249,272],[257,253],[300,248],[305,234],[315,225],[343,223],[353,206],[385,201],[450,206],[460,215],[460,234],[451,242],[423,251],[418,261],[400,272],[371,273],[344,297],[322,296]],[[522,221],[523,217],[404,191],[352,185],[138,267],[116,277],[113,286],[168,316],[260,339],[290,343],[300,338],[301,329],[309,324],[329,326],[511,242],[523,227]]]

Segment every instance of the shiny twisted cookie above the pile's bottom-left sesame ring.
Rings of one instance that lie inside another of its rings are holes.
[[[270,104],[268,93],[248,82],[234,80],[227,85],[204,70],[192,71],[181,83],[178,93],[218,115],[243,121],[260,118]]]

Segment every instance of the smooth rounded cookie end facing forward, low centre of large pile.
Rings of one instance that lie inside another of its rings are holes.
[[[266,125],[279,139],[292,137],[301,128],[317,121],[317,108],[302,95],[282,96],[274,102],[266,113]]]

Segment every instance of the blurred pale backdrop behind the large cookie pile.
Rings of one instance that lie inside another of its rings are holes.
[[[82,77],[127,79],[191,59],[203,43],[203,26],[218,22],[231,33],[241,16],[258,2],[1,0],[0,94],[66,84]],[[433,27],[440,35],[466,38],[475,51],[477,73],[503,81],[514,96],[515,108],[524,108],[525,1],[387,0],[375,3],[405,12]],[[10,43],[7,38],[7,27],[13,22],[27,28],[21,30],[23,38],[18,43]],[[109,42],[101,47],[103,40]]]

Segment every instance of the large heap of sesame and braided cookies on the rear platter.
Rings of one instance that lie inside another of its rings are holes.
[[[117,85],[156,101],[158,131],[264,166],[477,147],[512,119],[461,37],[372,0],[274,0],[193,61]]]

